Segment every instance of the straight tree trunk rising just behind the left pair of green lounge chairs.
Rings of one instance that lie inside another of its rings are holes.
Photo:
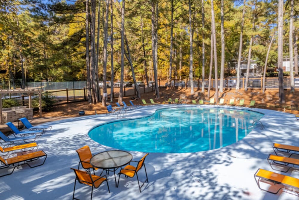
[[[153,58],[153,70],[155,79],[155,94],[156,98],[160,98],[159,88],[158,88],[158,1],[152,0],[152,58]]]

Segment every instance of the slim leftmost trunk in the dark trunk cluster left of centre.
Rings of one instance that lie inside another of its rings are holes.
[[[85,1],[86,6],[86,73],[87,73],[87,97],[88,102],[91,103],[91,83],[90,83],[90,66],[89,66],[89,0]]]

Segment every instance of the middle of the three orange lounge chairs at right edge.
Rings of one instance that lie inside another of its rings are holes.
[[[276,165],[281,165],[283,167],[289,166],[285,171],[280,170],[280,169],[274,169],[274,170],[278,170],[280,172],[288,172],[289,169],[295,168],[295,166],[297,166],[296,168],[298,169],[298,166],[299,166],[299,159],[296,159],[296,158],[289,158],[289,157],[283,157],[283,156],[269,154],[267,160],[272,169],[274,169],[273,165],[272,165],[273,163],[275,163]]]

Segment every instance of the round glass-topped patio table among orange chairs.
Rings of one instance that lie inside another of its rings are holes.
[[[121,150],[112,150],[112,151],[104,151],[94,155],[90,159],[90,164],[99,169],[112,169],[114,173],[115,179],[115,187],[116,187],[116,176],[115,171],[132,161],[132,154],[126,151]],[[112,171],[111,170],[111,171]]]

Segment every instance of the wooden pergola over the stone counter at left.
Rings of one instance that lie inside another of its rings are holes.
[[[2,117],[2,97],[4,94],[28,94],[29,95],[29,108],[32,108],[32,95],[38,94],[39,96],[39,117],[42,117],[42,90],[0,90],[0,124],[3,124],[3,117]]]

